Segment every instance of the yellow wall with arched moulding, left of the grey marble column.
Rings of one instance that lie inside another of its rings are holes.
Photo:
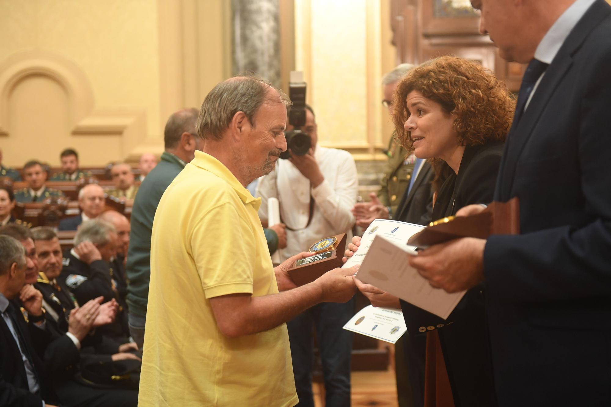
[[[225,0],[0,0],[4,163],[163,151],[167,116],[230,72]]]

